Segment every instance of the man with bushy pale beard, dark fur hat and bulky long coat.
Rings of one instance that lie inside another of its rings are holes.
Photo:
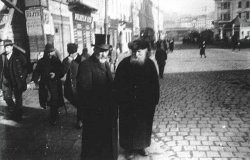
[[[135,40],[132,55],[124,58],[115,74],[116,99],[119,105],[119,139],[126,157],[147,156],[155,107],[159,101],[159,81],[154,62],[146,57],[149,44]]]

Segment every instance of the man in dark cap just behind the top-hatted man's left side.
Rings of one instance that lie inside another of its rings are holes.
[[[64,82],[64,97],[77,108],[76,128],[80,129],[82,128],[82,118],[80,115],[81,112],[76,91],[76,75],[82,57],[77,53],[77,48],[78,45],[75,43],[67,44],[69,56],[63,60],[63,73],[64,75],[66,74]]]

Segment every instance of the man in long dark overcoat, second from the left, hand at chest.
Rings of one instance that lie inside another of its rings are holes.
[[[58,108],[64,105],[62,97],[63,65],[55,56],[52,44],[46,44],[43,58],[38,60],[30,86],[39,80],[39,102],[42,108],[50,106],[50,124],[55,125]]]

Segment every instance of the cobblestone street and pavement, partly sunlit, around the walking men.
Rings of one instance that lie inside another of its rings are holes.
[[[147,148],[151,155],[134,160],[250,159],[249,51],[207,49],[206,59],[199,58],[198,49],[169,54]],[[68,113],[62,108],[59,124],[51,127],[37,90],[24,97],[21,123],[0,113],[0,159],[78,160],[81,131],[73,126],[75,108],[67,103]],[[122,153],[119,160],[125,160]]]

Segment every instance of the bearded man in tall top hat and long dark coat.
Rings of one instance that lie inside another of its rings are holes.
[[[99,37],[100,38],[100,37]],[[81,62],[77,92],[82,108],[82,159],[117,159],[117,109],[112,100],[113,78],[107,61],[105,36],[95,40],[94,53]]]

